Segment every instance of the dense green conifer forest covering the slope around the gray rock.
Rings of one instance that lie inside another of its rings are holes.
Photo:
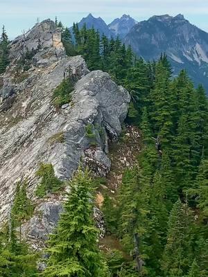
[[[103,203],[107,230],[123,250],[99,251],[92,222],[94,184],[89,172],[78,170],[49,239],[43,273],[35,269],[38,257],[19,239],[16,227],[33,205],[26,184],[17,186],[11,220],[1,234],[1,276],[208,276],[208,105],[202,84],[195,88],[186,71],[173,79],[165,54],[145,62],[119,38],[77,24],[71,34],[56,24],[68,55],[83,55],[90,70],[110,73],[132,98],[126,123],[141,129],[143,150],[135,167],[123,172],[118,193],[106,194]],[[8,64],[4,28],[0,47],[3,72]]]

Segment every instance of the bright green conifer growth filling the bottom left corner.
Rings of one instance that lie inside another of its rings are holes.
[[[1,244],[0,244],[0,275],[2,277],[35,277],[37,276],[37,258],[38,254],[34,253],[21,239],[21,236],[17,235],[17,218],[22,219],[22,211],[24,207],[22,202],[20,204],[21,188],[17,186],[17,197],[15,198],[15,204],[13,204],[12,211],[10,213],[9,224],[3,231],[1,231]],[[24,195],[24,193],[23,193]],[[23,201],[24,202],[24,201]],[[17,204],[20,204],[18,211]],[[16,206],[15,206],[16,205]],[[19,215],[17,217],[17,215]]]

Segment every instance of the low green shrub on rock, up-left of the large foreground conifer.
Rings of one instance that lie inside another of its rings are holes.
[[[37,197],[44,197],[47,193],[55,193],[64,186],[64,182],[55,177],[51,163],[41,163],[36,176],[41,178],[35,192]]]

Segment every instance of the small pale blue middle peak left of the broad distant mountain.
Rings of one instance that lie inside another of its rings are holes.
[[[123,39],[135,24],[137,24],[137,21],[132,19],[130,15],[123,15],[121,18],[114,19],[114,21],[108,25],[108,28],[114,34],[114,37],[119,36]]]

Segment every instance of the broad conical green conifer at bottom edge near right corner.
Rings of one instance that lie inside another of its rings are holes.
[[[167,242],[162,258],[162,270],[166,277],[184,276],[189,270],[193,259],[192,221],[189,207],[187,204],[182,204],[179,199],[173,205],[168,220]]]

